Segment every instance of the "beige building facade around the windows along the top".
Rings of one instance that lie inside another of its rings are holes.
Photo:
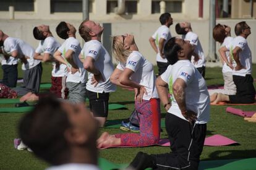
[[[129,0],[127,0],[129,1]],[[107,0],[92,0],[92,20],[155,20],[160,14],[151,14],[151,1],[154,0],[137,0],[137,14],[117,15],[114,13],[107,14]],[[164,0],[173,1],[173,0]],[[175,0],[182,2],[182,12],[172,13],[174,18],[179,19],[198,19],[198,0]],[[15,19],[45,19],[45,20],[82,20],[82,12],[55,12],[51,14],[50,0],[35,0],[34,9],[31,12],[15,12]],[[203,19],[208,19],[208,0],[204,1]],[[168,11],[166,11],[168,12]],[[8,11],[0,11],[0,19],[9,19]]]

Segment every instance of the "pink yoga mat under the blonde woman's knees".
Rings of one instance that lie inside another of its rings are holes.
[[[224,137],[223,135],[213,135],[211,137],[205,138],[205,146],[210,146],[210,147],[220,147],[220,146],[227,146],[227,145],[232,145],[234,143],[237,143],[236,141]],[[168,138],[161,138],[158,143],[153,144],[153,145],[158,145],[161,147],[169,147],[170,142]],[[152,145],[145,145],[145,146],[140,146],[140,147],[150,147]],[[137,146],[135,146],[137,147]],[[134,146],[119,146],[119,147],[109,147],[109,148],[135,148]],[[101,149],[106,149],[106,148],[101,148]]]

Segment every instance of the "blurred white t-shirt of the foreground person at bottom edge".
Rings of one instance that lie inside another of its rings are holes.
[[[67,163],[58,166],[51,166],[46,170],[100,170],[94,164],[82,164],[82,163]]]

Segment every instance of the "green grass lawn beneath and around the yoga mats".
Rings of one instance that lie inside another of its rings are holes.
[[[254,64],[254,70],[256,65]],[[42,82],[50,82],[51,64],[43,64]],[[254,78],[256,72],[254,71]],[[2,77],[2,70],[0,72]],[[22,77],[22,72],[19,72]],[[221,68],[207,68],[206,80],[208,85],[223,84]],[[109,111],[109,120],[120,120],[129,117],[134,109],[134,93],[132,91],[117,88],[111,93],[110,103],[120,103],[127,106],[127,110]],[[13,106],[13,104],[0,104],[0,107]],[[256,111],[256,106],[234,106],[245,111]],[[240,145],[229,147],[204,147],[202,160],[213,159],[237,159],[256,157],[256,124],[244,121],[242,117],[227,114],[226,106],[211,106],[211,120],[207,124],[207,136],[221,134],[236,140]],[[161,116],[165,116],[163,107]],[[17,138],[17,123],[22,113],[0,113],[0,169],[44,169],[48,166],[43,161],[35,158],[28,151],[14,149],[13,140]],[[111,134],[121,133],[119,129],[101,129],[100,133],[108,131]],[[167,138],[166,130],[161,133],[161,138]],[[166,153],[168,147],[143,147],[143,148],[111,148],[100,150],[100,157],[113,163],[129,163],[138,151],[146,153]]]

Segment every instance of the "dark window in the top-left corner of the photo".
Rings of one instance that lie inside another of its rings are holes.
[[[1,0],[0,11],[9,11],[9,6],[14,6],[15,11],[34,11],[33,0]]]

